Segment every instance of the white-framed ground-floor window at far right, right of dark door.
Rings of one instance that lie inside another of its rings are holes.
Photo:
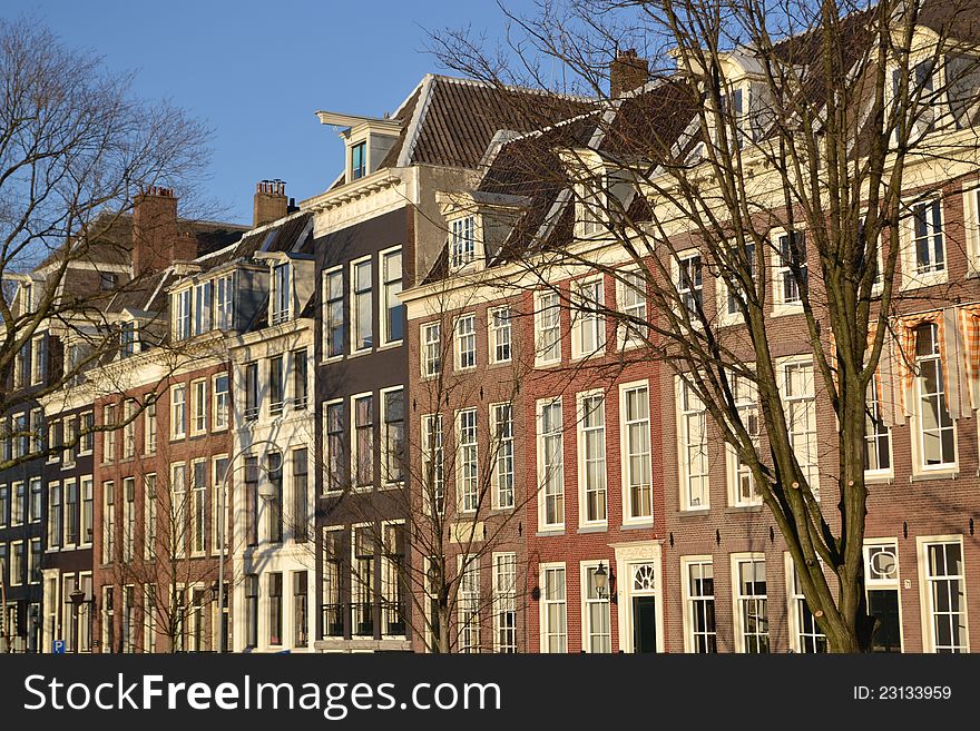
[[[954,541],[922,544],[929,612],[928,650],[969,652],[963,545]]]

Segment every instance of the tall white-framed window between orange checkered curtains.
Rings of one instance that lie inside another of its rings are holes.
[[[917,446],[922,470],[949,470],[957,462],[955,425],[947,408],[941,350],[934,323],[915,328]]]

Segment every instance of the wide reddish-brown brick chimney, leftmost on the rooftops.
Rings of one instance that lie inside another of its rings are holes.
[[[165,269],[177,259],[197,256],[197,240],[177,230],[177,198],[170,188],[150,186],[134,201],[133,271]]]

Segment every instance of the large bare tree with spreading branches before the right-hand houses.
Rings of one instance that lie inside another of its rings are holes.
[[[568,0],[539,9],[533,18],[504,10],[518,58],[510,68],[465,33],[433,38],[444,63],[490,82],[553,87],[546,70],[557,62],[562,78],[598,97],[584,116],[588,134],[552,130],[513,152],[521,185],[560,191],[541,225],[516,240],[525,266],[539,286],[569,266],[637,286],[624,265],[635,267],[650,317],[592,308],[641,334],[645,347],[630,357],[665,364],[737,453],[830,649],[868,650],[866,434],[908,398],[882,387],[883,371],[914,367],[915,340],[896,316],[957,289],[920,288],[938,281],[930,275],[944,269],[942,254],[928,233],[906,254],[903,231],[932,230],[920,204],[974,185],[976,3]],[[644,48],[654,66],[641,89],[610,95],[606,69],[624,46]],[[618,253],[615,265],[596,256],[604,247]],[[812,353],[790,385],[815,391],[836,416],[833,458],[819,475],[800,445],[801,415],[785,407],[786,353],[774,342],[785,320],[772,319],[774,308],[796,317],[783,330],[798,340],[795,353]]]

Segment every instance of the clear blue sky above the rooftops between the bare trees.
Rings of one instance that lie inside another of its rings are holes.
[[[533,10],[531,0],[509,0]],[[282,178],[297,200],[340,171],[343,147],[316,109],[380,116],[419,79],[439,71],[428,31],[471,27],[497,41],[504,18],[492,0],[3,0],[69,47],[136,72],[135,91],[169,98],[214,130],[205,197],[229,220],[251,223],[252,194]]]

